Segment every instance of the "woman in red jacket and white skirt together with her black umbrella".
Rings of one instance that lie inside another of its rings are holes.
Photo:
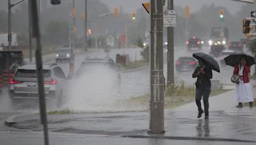
[[[250,107],[253,107],[253,95],[249,78],[250,67],[255,64],[255,59],[246,53],[237,53],[228,55],[224,60],[228,66],[234,67],[233,74],[238,76],[234,95],[234,100],[238,102],[236,107],[243,107],[243,102],[249,102]]]

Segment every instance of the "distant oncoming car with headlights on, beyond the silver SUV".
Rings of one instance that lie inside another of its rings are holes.
[[[62,48],[56,53],[56,62],[70,61],[75,59],[75,54],[70,48]]]

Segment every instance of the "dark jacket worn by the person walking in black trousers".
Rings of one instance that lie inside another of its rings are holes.
[[[204,72],[205,74],[200,73],[198,76],[196,75],[197,72],[200,71],[202,67],[198,66],[196,67],[196,70],[193,72],[192,77],[196,78],[197,77],[197,82],[200,83],[200,88],[210,88],[211,89],[211,80],[212,79],[212,70],[205,66],[204,67]]]

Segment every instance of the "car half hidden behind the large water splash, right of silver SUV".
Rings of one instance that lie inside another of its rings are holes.
[[[119,87],[121,84],[121,74],[120,74],[120,66],[118,66],[113,59],[111,58],[105,58],[105,59],[84,59],[83,62],[81,63],[81,66],[76,72],[76,77],[80,78],[86,72],[92,72],[94,71],[93,68],[99,68],[99,67],[104,67],[108,69],[113,76],[115,76],[114,83]],[[104,71],[106,71],[104,69]]]

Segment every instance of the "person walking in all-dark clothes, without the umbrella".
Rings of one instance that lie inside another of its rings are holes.
[[[205,64],[204,60],[198,60],[199,66],[196,67],[192,77],[196,80],[196,105],[198,107],[198,116],[200,118],[205,113],[205,119],[209,119],[209,95],[211,93],[212,70]],[[201,107],[201,99],[204,97],[204,111]]]

